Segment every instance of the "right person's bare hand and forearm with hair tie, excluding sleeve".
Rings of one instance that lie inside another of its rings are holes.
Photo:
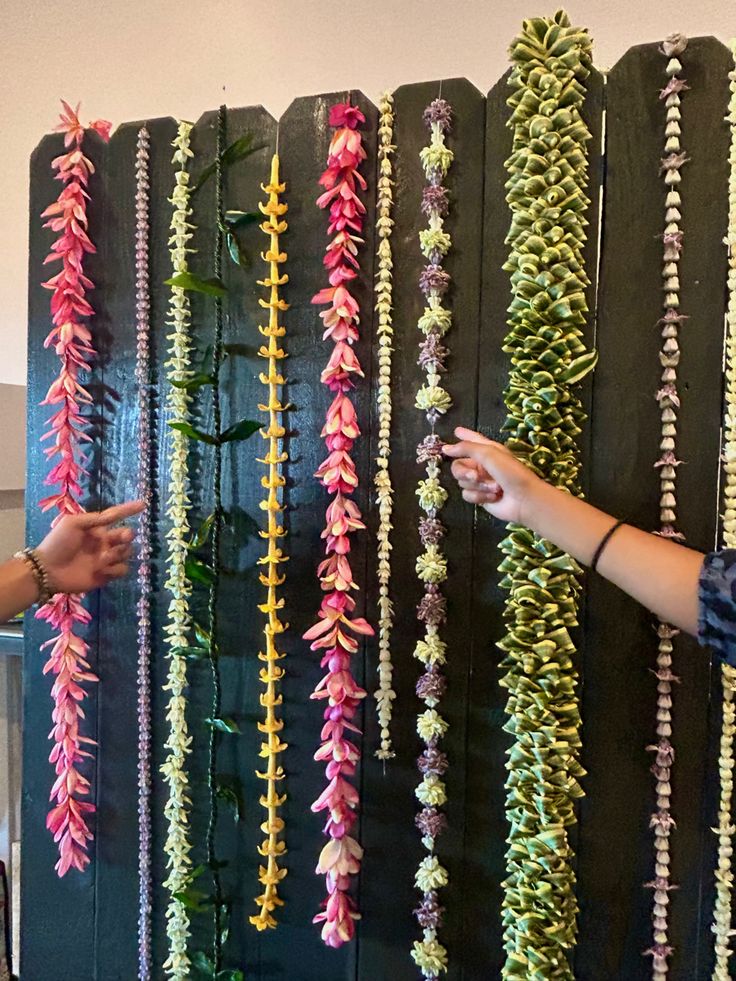
[[[472,429],[455,430],[445,446],[463,498],[502,521],[531,528],[587,565],[614,519],[536,476],[500,443]],[[611,538],[598,572],[662,620],[698,631],[698,582],[704,556],[657,535],[623,525]]]

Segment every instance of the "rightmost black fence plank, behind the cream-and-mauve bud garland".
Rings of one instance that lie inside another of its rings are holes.
[[[726,204],[727,72],[730,56],[712,38],[690,42],[681,57],[682,140],[691,162],[683,174],[685,248],[678,371],[682,409],[677,455],[678,515],[689,542],[709,549],[715,538],[721,409]],[[604,247],[598,311],[600,364],[594,377],[590,497],[645,529],[657,527],[664,193],[658,174],[664,144],[666,59],[657,45],[630,50],[611,72],[607,91]],[[650,976],[641,952],[650,943],[654,809],[649,773],[655,725],[656,657],[652,618],[598,578],[588,583],[583,690],[583,763],[579,872],[581,978]],[[713,771],[708,760],[708,658],[681,638],[674,692],[672,838],[673,981],[710,976],[711,910],[701,893],[712,874]],[[711,754],[710,759],[713,759]],[[710,795],[710,796],[709,796]],[[706,807],[706,800],[711,806]],[[706,856],[707,855],[707,859]]]

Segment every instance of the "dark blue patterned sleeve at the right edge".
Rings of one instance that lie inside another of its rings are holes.
[[[736,549],[706,555],[699,599],[698,640],[736,667]]]

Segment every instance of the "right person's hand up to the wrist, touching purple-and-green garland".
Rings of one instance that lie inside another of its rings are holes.
[[[502,521],[529,524],[531,500],[544,482],[501,443],[462,426],[455,435],[460,442],[444,446],[443,452],[453,458],[452,475],[463,500]]]

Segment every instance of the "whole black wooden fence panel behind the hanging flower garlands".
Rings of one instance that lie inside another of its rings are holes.
[[[723,122],[727,105],[730,55],[713,39],[692,41],[682,57],[691,85],[683,99],[683,144],[691,162],[682,184],[683,224],[686,231],[681,270],[681,296],[691,315],[683,330],[680,378],[683,408],[678,450],[687,461],[680,468],[679,514],[683,530],[698,548],[715,540],[717,513],[718,443],[721,414],[721,353],[724,311],[725,251],[721,240],[726,221],[726,155],[728,132]],[[658,413],[653,395],[658,381],[660,315],[662,182],[658,176],[663,143],[663,107],[658,101],[664,84],[664,57],[656,45],[632,49],[610,73],[608,84],[594,72],[589,83],[585,116],[593,139],[590,150],[589,239],[586,248],[591,286],[587,341],[597,342],[600,364],[583,397],[591,423],[581,437],[585,470],[583,482],[593,503],[642,527],[654,527],[658,486],[652,464],[657,456]],[[505,416],[503,388],[507,356],[501,351],[509,302],[508,277],[501,266],[507,254],[504,238],[509,225],[505,203],[504,160],[510,149],[506,127],[508,94],[502,79],[484,99],[463,79],[444,80],[441,94],[455,110],[449,144],[455,160],[447,179],[451,192],[448,228],[453,250],[447,268],[453,278],[450,302],[453,329],[448,389],[454,408],[440,431],[448,436],[458,424],[476,424],[498,436]],[[326,949],[311,918],[323,897],[323,880],[314,875],[323,843],[322,817],[309,805],[324,786],[322,769],[312,760],[321,727],[320,703],[309,694],[321,676],[319,658],[300,638],[314,620],[320,602],[316,566],[322,553],[320,532],[327,495],[313,479],[323,457],[318,439],[329,393],[319,374],[329,356],[321,340],[318,310],[310,303],[326,283],[322,257],[327,244],[327,218],[315,206],[317,180],[324,168],[330,139],[329,107],[343,100],[340,92],[297,99],[276,122],[260,107],[227,113],[227,140],[251,132],[261,149],[231,168],[225,177],[226,207],[253,210],[263,194],[260,182],[269,176],[270,157],[279,148],[282,179],[287,183],[289,230],[283,245],[289,254],[290,281],[284,296],[291,304],[285,315],[285,398],[293,408],[288,430],[289,505],[286,552],[287,580],[282,592],[290,629],[283,638],[288,657],[283,662],[289,749],[283,762],[288,794],[283,808],[289,874],[282,883],[286,905],[277,931],[258,934],[247,924],[256,909],[258,890],[256,846],[262,809],[260,781],[254,776],[260,737],[257,653],[261,648],[262,587],[254,563],[262,543],[254,534],[260,521],[262,466],[256,456],[259,436],[228,447],[224,453],[224,505],[229,527],[223,541],[221,622],[224,681],[223,714],[240,723],[240,736],[221,740],[220,770],[243,782],[245,813],[236,824],[224,809],[220,821],[220,857],[230,860],[223,871],[233,899],[229,963],[243,967],[248,978],[264,981],[334,978],[401,981],[416,976],[409,950],[417,929],[411,916],[417,893],[414,871],[421,858],[414,787],[419,741],[415,731],[419,702],[414,694],[418,664],[412,657],[416,642],[415,606],[419,598],[414,572],[418,539],[415,497],[419,476],[415,445],[425,432],[414,408],[420,381],[416,365],[419,333],[416,321],[422,299],[417,280],[422,265],[417,233],[424,220],[419,210],[423,174],[419,150],[427,131],[421,114],[440,93],[440,82],[407,85],[395,94],[396,226],[394,250],[394,439],[391,474],[395,489],[393,591],[394,744],[397,756],[384,765],[374,757],[378,745],[373,692],[376,685],[375,641],[356,657],[356,675],[369,691],[359,724],[364,728],[363,758],[358,773],[362,794],[359,837],[366,847],[359,883],[364,919],[356,941],[340,951]],[[364,138],[368,151],[366,176],[368,215],[361,275],[357,291],[363,310],[359,355],[366,381],[356,391],[363,438],[354,454],[361,478],[359,504],[369,534],[356,539],[352,555],[361,583],[363,602],[376,620],[376,509],[372,490],[377,411],[369,391],[375,373],[375,319],[372,312],[375,219],[375,107],[360,94],[353,100],[367,116]],[[607,110],[606,153],[602,150],[603,108]],[[192,134],[196,176],[214,158],[217,113],[208,112]],[[89,500],[103,503],[134,492],[137,464],[134,409],[134,157],[139,124],[121,127],[105,149],[90,139],[89,154],[98,175],[92,187],[91,231],[99,253],[89,260],[97,284],[95,336],[99,357],[93,389],[99,412],[100,438],[92,464]],[[151,133],[151,284],[152,357],[155,367],[154,412],[157,457],[155,502],[157,552],[154,635],[160,638],[165,617],[165,548],[163,517],[166,495],[167,426],[165,395],[166,307],[170,275],[167,247],[173,167],[170,143],[176,129],[172,119],[148,123]],[[39,213],[53,200],[57,185],[50,162],[60,139],[47,137],[31,164],[31,250],[29,293],[29,511],[28,537],[37,541],[47,527],[35,499],[41,496],[45,473],[38,437],[47,411],[38,406],[53,377],[53,356],[42,349],[48,331],[49,294],[38,285],[42,260],[51,236],[40,230]],[[602,227],[599,227],[601,185],[605,187]],[[198,226],[190,267],[200,276],[212,274],[214,245],[214,181],[195,198]],[[602,239],[599,257],[599,242]],[[225,301],[225,344],[228,356],[222,372],[223,425],[256,417],[264,387],[258,380],[262,359],[257,332],[264,312],[256,280],[262,278],[258,253],[265,237],[247,233],[252,266],[240,269],[225,261],[229,289]],[[600,258],[601,285],[597,288]],[[214,324],[213,301],[193,297],[193,334],[199,355],[205,356]],[[205,390],[206,393],[206,390]],[[209,396],[198,400],[197,423],[212,425]],[[194,448],[195,499],[193,514],[205,516],[211,504],[211,460],[205,447]],[[101,480],[98,480],[98,475]],[[99,487],[98,487],[99,485]],[[449,831],[440,853],[450,873],[444,890],[447,922],[443,932],[450,953],[452,981],[481,981],[499,976],[502,963],[499,909],[504,874],[506,822],[504,761],[508,737],[502,731],[506,696],[498,686],[498,653],[494,642],[502,632],[504,596],[497,588],[497,545],[503,528],[484,512],[473,514],[456,491],[447,506],[447,554],[451,575],[447,583],[450,619],[447,627],[448,693],[444,714],[451,728],[447,737]],[[110,587],[92,604],[100,616],[91,628],[94,661],[101,684],[88,700],[89,731],[96,733],[95,799],[99,807],[92,865],[85,875],[70,873],[61,882],[53,872],[55,847],[44,828],[51,781],[47,763],[50,728],[50,681],[40,673],[38,645],[48,636],[45,625],[30,620],[25,667],[25,780],[23,799],[23,978],[29,981],[114,981],[134,977],[136,970],[136,721],[135,721],[135,604],[131,578]],[[201,602],[198,601],[198,602]],[[577,836],[580,943],[576,976],[581,981],[647,976],[641,951],[649,940],[651,896],[642,883],[651,874],[651,834],[647,827],[653,806],[650,756],[645,746],[653,734],[655,686],[649,669],[655,647],[651,618],[601,580],[587,583],[582,626],[578,631],[583,709],[584,764],[587,797],[581,804]],[[709,933],[712,905],[717,768],[715,752],[720,724],[717,679],[708,660],[683,641],[676,670],[683,679],[675,694],[675,742],[678,759],[674,803],[679,828],[673,839],[674,878],[681,889],[673,897],[672,935],[677,947],[672,961],[673,981],[706,978],[712,962]],[[152,691],[154,704],[154,874],[164,877],[162,844],[165,826],[162,805],[165,787],[158,767],[163,756],[166,695],[161,687],[166,662],[157,641]],[[210,714],[211,684],[206,664],[190,665],[189,724],[198,747],[191,761],[195,809],[193,822],[203,829],[207,813],[206,753],[203,720]],[[715,674],[715,672],[714,672]],[[710,688],[713,694],[710,694]],[[202,841],[198,832],[195,839]],[[197,845],[195,862],[203,859]],[[59,911],[63,910],[63,917]],[[165,956],[164,896],[156,892],[154,952],[156,963]],[[207,918],[193,917],[193,949],[207,944]],[[160,969],[159,969],[160,970]],[[161,975],[162,976],[162,975]]]

